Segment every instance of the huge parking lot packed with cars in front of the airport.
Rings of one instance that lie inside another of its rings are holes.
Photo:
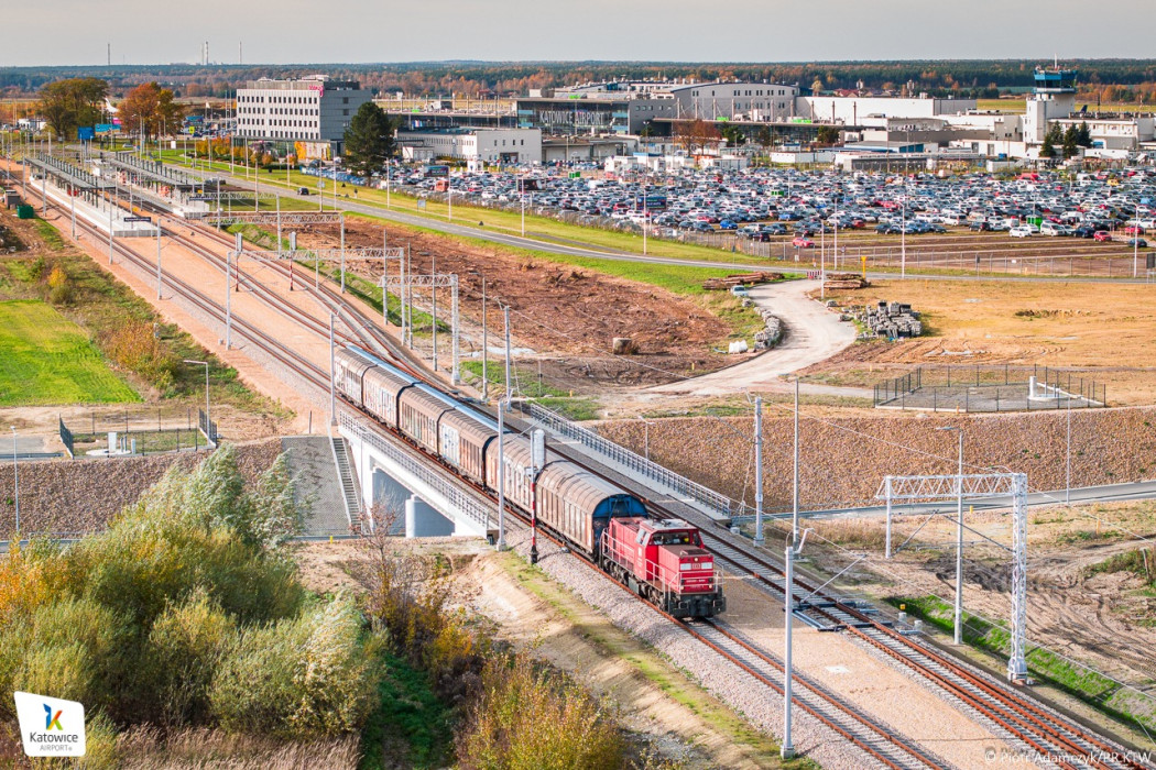
[[[617,178],[594,166],[453,172],[400,169],[395,190],[838,269],[1131,275],[1147,269],[1156,169],[996,178],[751,169]],[[384,180],[372,184],[384,186]],[[1133,240],[1139,239],[1139,240]],[[864,262],[866,260],[866,264]]]

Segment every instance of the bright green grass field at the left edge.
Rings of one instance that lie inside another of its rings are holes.
[[[83,330],[45,302],[0,302],[0,405],[140,401]]]

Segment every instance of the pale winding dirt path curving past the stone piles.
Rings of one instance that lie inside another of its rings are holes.
[[[786,334],[777,347],[738,366],[705,374],[694,380],[651,388],[651,393],[719,396],[743,390],[784,393],[793,388],[780,377],[813,366],[855,341],[854,327],[812,300],[808,293],[818,289],[817,281],[792,281],[755,286],[750,298],[783,320]],[[860,388],[805,386],[808,394],[870,397]]]

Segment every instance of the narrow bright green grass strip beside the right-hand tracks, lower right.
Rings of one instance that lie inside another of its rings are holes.
[[[935,597],[889,598],[888,601],[895,606],[904,605],[912,616],[941,631],[953,631],[955,611],[946,601]],[[1001,660],[1007,660],[1010,650],[1007,631],[966,612],[963,614],[963,641]],[[1142,693],[1124,688],[1107,676],[1043,648],[1029,650],[1025,660],[1029,674],[1037,681],[1051,685],[1126,725],[1139,724],[1146,732],[1156,728],[1156,703]]]

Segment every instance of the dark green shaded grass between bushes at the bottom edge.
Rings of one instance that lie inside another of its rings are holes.
[[[430,688],[429,674],[383,652],[378,703],[362,730],[361,770],[444,768],[453,756],[449,707]]]

